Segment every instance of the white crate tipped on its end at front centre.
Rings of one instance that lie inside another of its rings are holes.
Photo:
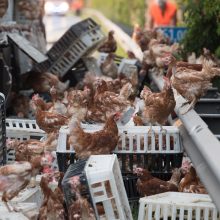
[[[131,210],[116,155],[92,155],[85,166],[92,202],[103,205],[104,216],[98,219],[131,220]]]

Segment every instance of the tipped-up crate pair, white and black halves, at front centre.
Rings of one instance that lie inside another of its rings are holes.
[[[77,161],[69,166],[62,181],[67,206],[74,200],[69,184],[73,176],[80,177],[84,188],[82,196],[92,203],[97,219],[132,220],[116,155],[92,155],[87,161]]]

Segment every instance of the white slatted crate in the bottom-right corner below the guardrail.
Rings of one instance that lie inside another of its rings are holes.
[[[138,220],[219,220],[211,198],[204,194],[168,192],[140,199]]]

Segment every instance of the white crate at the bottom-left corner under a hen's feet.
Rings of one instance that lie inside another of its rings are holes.
[[[9,212],[5,204],[0,202],[0,220],[37,220],[38,207],[36,203],[16,203],[9,206],[15,208],[16,212]]]

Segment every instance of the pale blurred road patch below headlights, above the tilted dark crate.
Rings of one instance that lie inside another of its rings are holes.
[[[44,24],[48,43],[47,49],[49,49],[73,24],[80,20],[79,17],[69,14],[66,16],[45,16]]]

